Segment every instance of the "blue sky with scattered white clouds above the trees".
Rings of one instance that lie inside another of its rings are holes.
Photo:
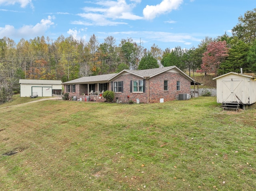
[[[206,36],[232,35],[238,17],[256,0],[0,0],[0,38],[95,34],[132,38],[145,48],[197,47]]]

